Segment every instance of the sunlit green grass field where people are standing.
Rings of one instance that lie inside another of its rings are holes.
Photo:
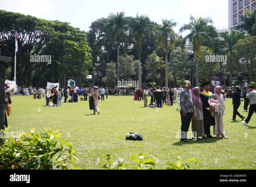
[[[231,99],[225,102],[224,116],[226,136],[230,139],[189,143],[176,138],[181,126],[177,104],[157,112],[155,108],[144,108],[143,101],[133,101],[132,96],[109,96],[104,102],[99,101],[100,114],[91,115],[88,101],[45,107],[45,98],[33,99],[31,95],[11,99],[11,131],[28,132],[33,127],[36,132],[44,131],[43,127],[60,130],[63,138],[74,145],[79,158],[77,167],[82,169],[100,169],[97,160],[102,160],[102,154],[110,153],[114,160],[124,158],[131,162],[129,157],[142,151],[158,159],[155,169],[165,168],[167,162],[176,163],[178,156],[184,161],[195,157],[197,164],[192,165],[193,169],[256,169],[256,114],[247,127],[239,121],[231,122]],[[238,111],[247,116],[247,112],[242,112],[243,104]],[[125,140],[127,132],[141,133],[144,140]]]

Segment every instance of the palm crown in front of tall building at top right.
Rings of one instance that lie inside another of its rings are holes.
[[[241,19],[243,23],[238,25],[238,28],[247,31],[251,36],[256,36],[256,10],[251,13],[246,9],[245,15],[242,15]]]

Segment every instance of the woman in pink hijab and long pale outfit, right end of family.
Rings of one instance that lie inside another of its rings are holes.
[[[224,131],[224,126],[223,126],[223,115],[225,111],[225,104],[224,104],[224,97],[221,94],[222,92],[222,87],[217,86],[214,89],[214,95],[213,99],[218,100],[219,102],[219,107],[215,109],[215,126],[213,126],[213,134],[217,135],[217,138],[225,138],[229,139],[225,136],[225,131]]]

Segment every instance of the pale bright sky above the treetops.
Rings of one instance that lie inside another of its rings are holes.
[[[84,31],[93,21],[121,11],[126,16],[146,15],[158,24],[174,20],[176,33],[190,15],[211,17],[217,29],[228,26],[228,0],[0,0],[0,9],[68,22]]]

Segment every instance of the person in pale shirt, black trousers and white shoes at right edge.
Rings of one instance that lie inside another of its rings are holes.
[[[248,92],[246,93],[246,98],[250,99],[251,105],[249,107],[249,114],[247,118],[245,119],[245,122],[241,122],[243,125],[248,126],[248,123],[253,115],[254,112],[256,112],[256,90],[253,85],[250,85]]]

